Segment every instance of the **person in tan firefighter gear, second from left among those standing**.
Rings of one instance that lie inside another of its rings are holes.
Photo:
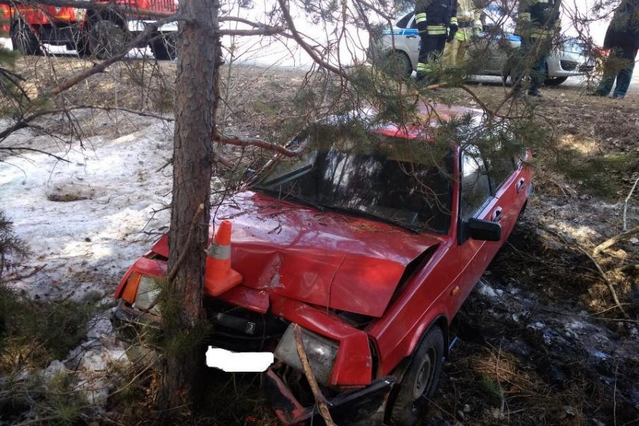
[[[444,63],[449,66],[461,66],[468,57],[468,47],[473,35],[482,30],[481,12],[473,0],[457,0],[457,30],[451,31],[444,48]]]

